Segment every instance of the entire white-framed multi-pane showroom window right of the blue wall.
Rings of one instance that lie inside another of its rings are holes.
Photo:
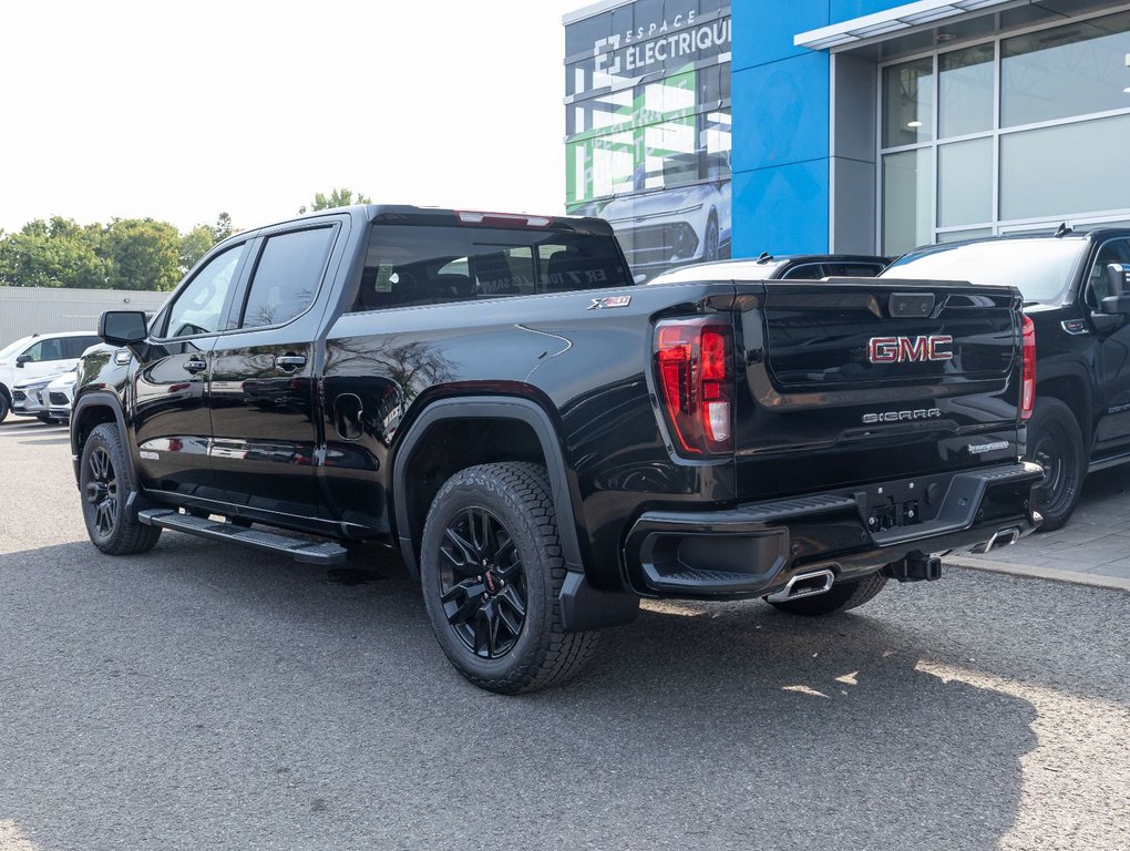
[[[883,251],[1130,217],[1128,62],[1124,11],[883,68]]]

